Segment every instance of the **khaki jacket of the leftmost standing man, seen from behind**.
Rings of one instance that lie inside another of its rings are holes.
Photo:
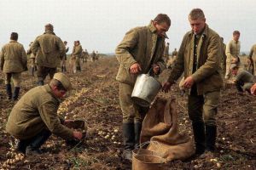
[[[11,40],[5,44],[0,59],[1,70],[5,73],[26,71],[26,51],[19,42]]]

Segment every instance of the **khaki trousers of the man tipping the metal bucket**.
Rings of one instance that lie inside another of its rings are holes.
[[[135,105],[131,100],[133,90],[131,84],[119,82],[119,103],[123,114],[123,122],[143,122],[143,118],[148,111],[147,107]]]

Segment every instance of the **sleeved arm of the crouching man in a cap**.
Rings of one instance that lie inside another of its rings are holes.
[[[44,104],[40,105],[38,110],[43,122],[51,133],[54,133],[62,139],[73,139],[73,131],[61,124],[57,116],[57,108],[53,101],[44,102]]]

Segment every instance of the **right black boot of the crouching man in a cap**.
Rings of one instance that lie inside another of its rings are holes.
[[[38,155],[41,154],[41,150],[39,148],[42,144],[45,143],[51,133],[49,130],[43,130],[38,133],[35,137],[32,138],[31,143],[26,147],[26,156]]]

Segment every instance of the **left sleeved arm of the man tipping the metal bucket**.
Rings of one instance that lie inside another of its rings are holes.
[[[124,65],[125,69],[129,70],[131,65],[137,63],[137,61],[130,54],[130,50],[137,45],[138,32],[135,29],[128,31],[122,42],[119,43],[115,49],[115,56],[120,65]]]

